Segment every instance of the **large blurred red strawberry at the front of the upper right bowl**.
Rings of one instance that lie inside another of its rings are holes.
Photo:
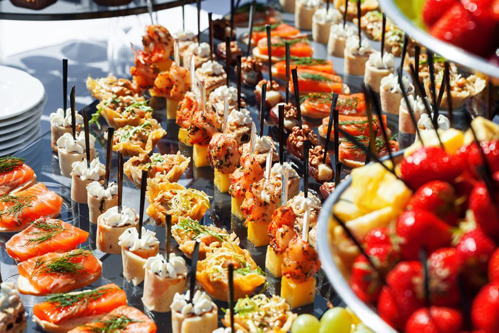
[[[456,2],[431,27],[430,33],[482,56],[492,53],[499,21],[494,17],[492,0]]]

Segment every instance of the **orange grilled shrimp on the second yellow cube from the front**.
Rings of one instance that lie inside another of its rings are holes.
[[[272,214],[272,222],[268,226],[270,246],[276,253],[283,253],[291,239],[296,235],[293,229],[296,217],[292,208],[282,206]]]

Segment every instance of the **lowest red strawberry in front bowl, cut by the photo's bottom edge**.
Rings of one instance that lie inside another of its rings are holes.
[[[430,307],[415,311],[407,321],[406,333],[459,333],[463,329],[461,312],[451,308]]]

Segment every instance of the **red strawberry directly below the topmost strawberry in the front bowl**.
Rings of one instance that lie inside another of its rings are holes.
[[[412,209],[420,208],[432,212],[447,224],[456,225],[460,212],[456,199],[451,184],[434,180],[414,192],[408,206]]]

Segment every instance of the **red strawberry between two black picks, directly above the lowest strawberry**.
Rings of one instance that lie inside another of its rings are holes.
[[[441,248],[428,257],[431,303],[455,306],[461,303],[458,277],[461,258],[454,248]]]

